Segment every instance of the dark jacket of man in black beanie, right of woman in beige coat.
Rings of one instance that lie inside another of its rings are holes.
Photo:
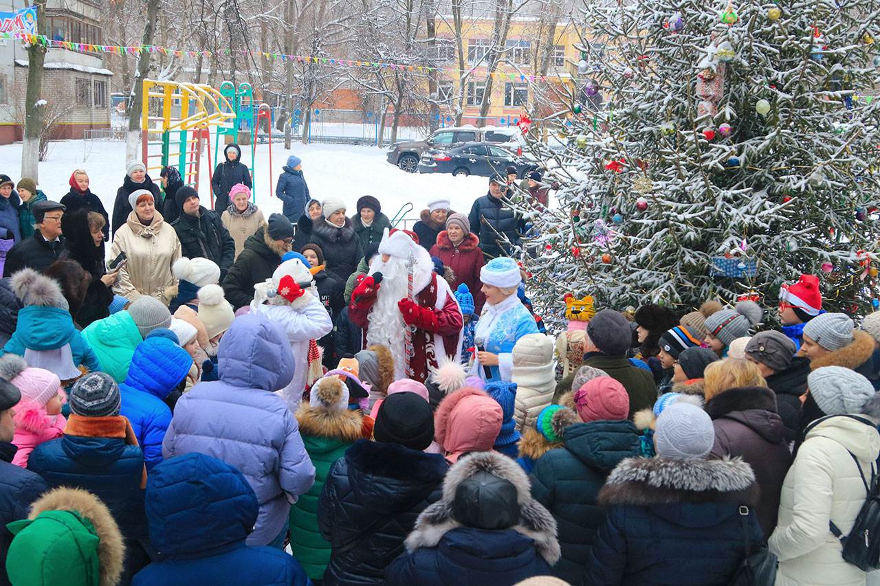
[[[199,206],[198,216],[180,214],[171,225],[180,240],[180,253],[188,259],[213,260],[223,279],[235,260],[235,240],[220,221],[220,215]]]

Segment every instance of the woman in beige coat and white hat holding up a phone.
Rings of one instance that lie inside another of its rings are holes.
[[[110,259],[126,254],[114,293],[134,301],[142,295],[164,304],[165,288],[174,284],[171,266],[180,259],[180,240],[174,229],[156,211],[153,195],[140,189],[128,196],[132,211],[114,234]]]

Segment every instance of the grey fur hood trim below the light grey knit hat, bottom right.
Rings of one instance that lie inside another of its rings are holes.
[[[634,507],[709,502],[753,507],[758,500],[755,473],[742,458],[627,458],[598,495],[600,505]]]

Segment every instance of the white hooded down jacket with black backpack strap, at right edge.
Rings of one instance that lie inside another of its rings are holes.
[[[797,451],[782,483],[779,524],[769,539],[780,560],[777,586],[868,583],[868,574],[840,556],[840,541],[828,528],[831,520],[848,535],[865,501],[865,486],[847,450],[870,482],[871,465],[880,454],[874,426],[832,417],[811,429]]]

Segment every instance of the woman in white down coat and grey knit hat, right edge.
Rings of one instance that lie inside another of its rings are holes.
[[[776,586],[863,586],[869,574],[843,560],[840,539],[828,522],[849,535],[865,502],[859,466],[870,483],[880,454],[880,400],[867,378],[840,366],[814,370],[807,385],[808,401],[825,415],[840,416],[819,418],[807,427],[782,483],[779,521],[768,541],[780,562]]]

